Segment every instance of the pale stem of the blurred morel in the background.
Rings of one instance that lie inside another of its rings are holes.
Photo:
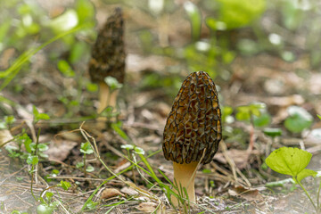
[[[112,111],[115,111],[119,89],[111,91],[110,87],[105,82],[101,81],[99,83],[99,90],[99,106],[97,112],[101,113],[107,106],[111,106]]]

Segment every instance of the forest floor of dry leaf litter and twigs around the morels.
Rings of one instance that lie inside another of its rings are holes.
[[[97,11],[98,27],[105,20],[104,10],[105,8],[100,8]],[[129,10],[125,13],[129,20],[125,37],[128,48],[127,78],[119,93],[118,119],[122,121],[121,130],[130,140],[119,136],[119,132],[111,128],[111,123],[102,125],[96,119],[84,119],[84,109],[80,108],[81,111],[75,117],[63,117],[70,109],[66,108],[64,103],[58,102],[56,95],[71,90],[70,87],[75,86],[75,80],[62,78],[59,71],[45,60],[47,49],[37,53],[37,60],[32,65],[28,77],[20,79],[23,92],[1,92],[1,95],[19,104],[12,107],[17,120],[10,131],[0,130],[0,142],[11,140],[22,128],[29,130],[29,136],[35,142],[37,131],[41,128],[39,143],[47,143],[49,146],[45,151],[48,159],[37,165],[37,173],[34,174],[35,177],[31,177],[30,165],[9,157],[8,152],[2,149],[0,213],[11,213],[12,210],[35,213],[39,203],[35,202],[32,193],[40,195],[46,188],[61,180],[70,182],[71,187],[68,191],[53,188],[53,199],[61,204],[54,213],[79,213],[91,196],[92,203],[86,204],[88,213],[151,213],[154,210],[156,213],[176,213],[170,207],[160,186],[142,169],[128,169],[119,177],[105,183],[105,179],[111,177],[111,173],[105,169],[102,162],[95,159],[94,154],[86,155],[86,161],[95,167],[94,171],[84,173],[76,168],[76,164],[83,161],[84,154],[80,152],[80,144],[87,139],[81,131],[86,131],[85,136],[89,137],[92,143],[95,139],[97,151],[103,162],[114,173],[119,173],[131,165],[126,157],[131,157],[132,161],[140,160],[135,152],[121,148],[121,145],[131,143],[142,148],[146,157],[152,154],[147,161],[157,177],[167,182],[158,171],[161,169],[166,177],[173,179],[172,164],[164,159],[161,142],[163,128],[176,92],[169,95],[163,87],[144,87],[142,79],[151,72],[160,74],[160,70],[166,70],[169,64],[177,62],[167,56],[145,55],[136,51],[137,44],[133,41],[135,39],[130,38],[134,37],[132,32],[138,29],[135,26],[138,18],[135,20],[133,12]],[[151,24],[148,21],[141,22],[139,24],[144,26]],[[185,34],[188,35],[186,32]],[[79,65],[81,66],[86,66],[86,62]],[[46,72],[35,71],[44,68]],[[272,115],[272,127],[284,130],[283,136],[276,138],[273,149],[282,146],[305,149],[313,154],[308,168],[321,170],[320,140],[310,135],[309,131],[302,135],[292,135],[283,127],[284,119],[288,116],[286,110],[291,105],[301,106],[313,115],[321,112],[321,100],[316,99],[321,91],[321,74],[309,68],[307,55],[298,55],[295,62],[285,62],[273,53],[259,53],[251,57],[237,56],[228,69],[231,77],[228,80],[218,78],[216,81],[222,98],[220,104],[235,108],[253,102],[266,103],[268,112]],[[181,76],[187,74],[187,71],[183,71]],[[88,78],[88,75],[85,74],[85,77]],[[84,91],[81,100],[90,100],[96,106],[97,96],[95,93]],[[50,113],[52,119],[42,120],[37,124],[29,122],[33,119],[30,113],[31,103],[41,112]],[[95,107],[88,111],[95,111]],[[289,177],[262,168],[262,157],[265,157],[266,145],[271,139],[265,136],[261,129],[252,128],[250,123],[236,120],[226,127],[239,128],[242,132],[233,133],[235,137],[223,139],[214,161],[197,171],[195,192],[198,205],[191,213],[314,213],[309,199],[298,186],[291,182],[267,185],[272,181]],[[320,127],[321,122],[315,122],[313,125],[313,128]],[[250,141],[254,142],[252,150],[248,150]],[[57,169],[59,173],[54,174],[53,169]],[[124,181],[130,181],[132,185]],[[311,177],[306,178],[303,183],[311,192],[318,187]],[[98,186],[100,188],[97,188]]]

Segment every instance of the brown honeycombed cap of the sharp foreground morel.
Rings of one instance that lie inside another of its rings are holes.
[[[185,78],[167,118],[162,144],[165,159],[210,163],[221,138],[216,86],[206,72],[193,72]]]

